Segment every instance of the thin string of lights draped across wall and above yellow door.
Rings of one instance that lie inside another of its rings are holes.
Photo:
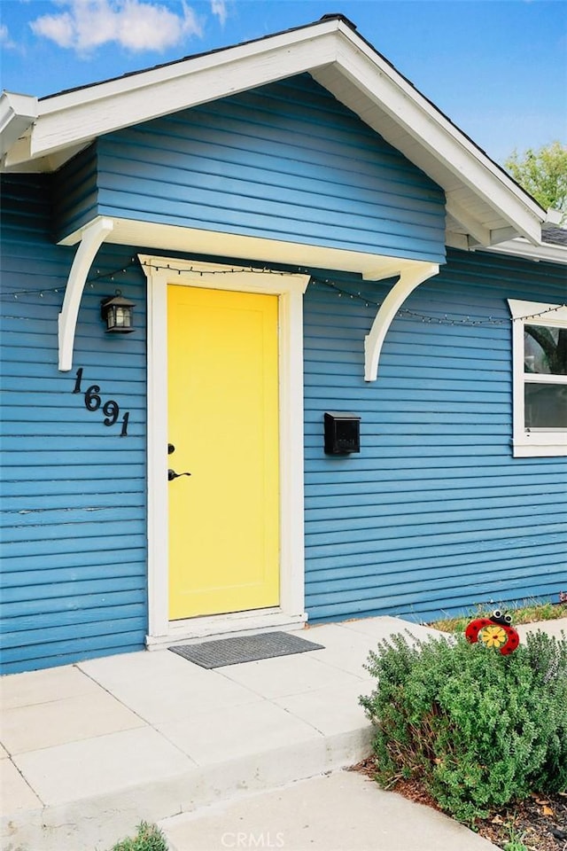
[[[96,274],[93,277],[89,277],[89,279],[87,280],[86,286],[89,286],[89,289],[93,290],[97,281],[100,281],[102,279],[106,279],[106,280],[110,280],[111,282],[114,282],[114,277],[116,275],[120,275],[120,274],[125,275],[128,272],[128,269],[131,269],[132,267],[134,267],[136,265],[137,265],[136,258],[132,257],[131,261],[129,263],[127,263],[126,266],[122,265],[122,266],[120,266],[119,269],[114,269],[113,271],[110,271],[110,272],[105,272],[105,271],[101,272],[100,269],[97,269]],[[296,272],[293,273],[289,270],[271,269],[271,268],[266,267],[266,266],[261,266],[261,267],[258,267],[258,266],[240,266],[240,267],[230,267],[229,269],[199,269],[199,268],[195,268],[193,266],[189,266],[189,267],[183,266],[182,268],[179,268],[179,267],[173,266],[171,263],[160,264],[160,263],[156,263],[156,262],[146,262],[146,261],[142,262],[142,266],[144,266],[144,268],[146,268],[146,269],[154,269],[155,271],[167,270],[169,272],[176,272],[177,275],[182,275],[183,273],[189,272],[189,273],[192,273],[194,275],[198,275],[199,277],[203,277],[203,275],[206,275],[207,277],[217,276],[217,275],[235,275],[235,274],[241,274],[243,272],[245,272],[247,274],[252,274],[252,275],[253,274],[276,275],[276,276],[279,276],[279,277],[284,277],[284,276],[287,276],[287,275],[290,275],[290,274],[310,275],[309,269],[302,269],[300,267],[298,267],[296,269]],[[370,299],[368,295],[362,295],[362,293],[360,291],[353,293],[350,290],[339,285],[336,281],[333,281],[332,279],[330,279],[328,277],[323,278],[323,277],[317,277],[317,276],[310,276],[310,285],[312,285],[312,286],[323,285],[323,286],[329,287],[330,289],[334,290],[337,293],[337,296],[338,296],[339,299],[347,297],[351,301],[360,301],[361,304],[363,304],[365,308],[370,308],[370,307],[371,308],[380,308],[381,305],[382,305],[381,301],[374,301],[373,299]],[[12,292],[12,293],[4,292],[4,293],[2,293],[0,298],[2,298],[4,300],[7,299],[7,298],[10,298],[10,299],[13,298],[16,301],[20,301],[21,296],[39,294],[39,297],[43,299],[44,294],[46,294],[46,293],[59,293],[60,290],[61,290],[61,285],[58,285],[58,286],[53,287],[51,289],[42,289],[39,293],[37,293],[37,290],[19,290],[17,292]],[[22,304],[26,303],[27,304],[27,303],[33,303],[33,302],[21,302],[20,301],[20,303],[22,303]],[[506,324],[509,324],[510,322],[511,323],[525,322],[525,321],[528,321],[528,320],[531,320],[531,319],[538,319],[538,318],[540,318],[540,316],[546,316],[549,313],[555,313],[556,311],[562,310],[564,308],[567,308],[567,303],[554,305],[551,308],[544,308],[543,310],[539,310],[536,313],[532,313],[532,314],[529,314],[527,316],[511,316],[511,317],[506,317],[506,318],[501,318],[501,319],[495,318],[494,316],[470,316],[470,315],[463,315],[463,314],[453,314],[453,316],[449,316],[447,313],[443,314],[443,316],[436,316],[436,315],[421,313],[420,311],[412,310],[410,308],[400,308],[400,310],[397,312],[396,316],[398,316],[399,318],[405,318],[405,319],[416,319],[416,320],[419,320],[423,324],[467,325],[467,326],[506,325]]]

